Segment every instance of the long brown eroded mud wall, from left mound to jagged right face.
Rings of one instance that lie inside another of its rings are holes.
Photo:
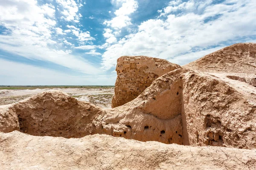
[[[179,68],[154,80],[133,101],[111,110],[61,92],[43,92],[7,109],[3,115],[16,121],[9,127],[2,124],[1,131],[66,138],[99,133],[143,142],[253,149],[255,107],[255,100],[227,82]]]

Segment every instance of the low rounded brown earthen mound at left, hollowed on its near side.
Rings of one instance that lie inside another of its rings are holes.
[[[35,136],[82,137],[95,131],[93,120],[99,114],[104,111],[93,104],[60,91],[46,91],[2,111],[0,128],[2,132],[20,130]]]

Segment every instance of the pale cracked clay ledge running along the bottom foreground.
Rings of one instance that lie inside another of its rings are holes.
[[[108,135],[65,139],[0,134],[2,170],[253,170],[256,150],[138,142]]]

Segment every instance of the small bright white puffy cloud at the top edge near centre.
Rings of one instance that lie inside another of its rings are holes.
[[[114,29],[121,29],[125,26],[131,25],[131,18],[128,15],[134,13],[138,8],[136,0],[116,0],[116,3],[122,2],[122,6],[117,9],[114,14],[116,17],[112,20],[105,20],[103,24],[110,26]]]

